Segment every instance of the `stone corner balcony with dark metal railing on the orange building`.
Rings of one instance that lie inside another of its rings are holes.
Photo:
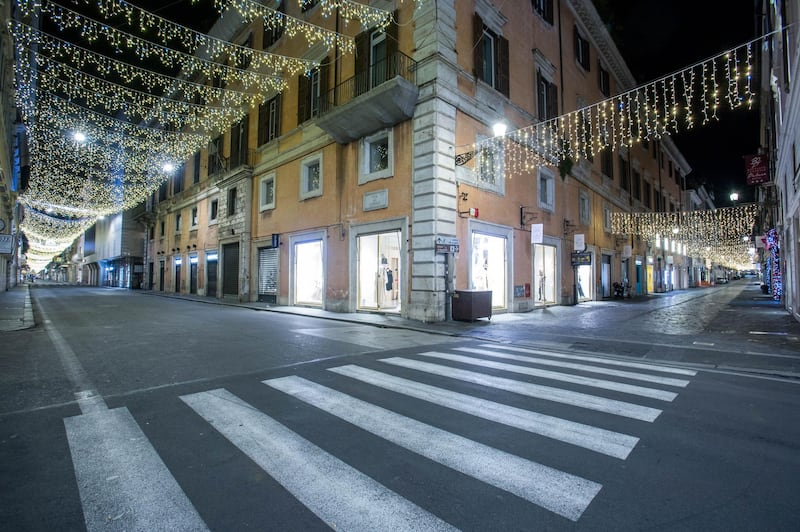
[[[347,144],[414,116],[417,63],[397,52],[320,96],[317,125]]]

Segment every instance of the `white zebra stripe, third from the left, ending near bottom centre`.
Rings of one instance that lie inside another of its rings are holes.
[[[421,423],[301,377],[265,384],[444,466],[577,521],[602,487]]]

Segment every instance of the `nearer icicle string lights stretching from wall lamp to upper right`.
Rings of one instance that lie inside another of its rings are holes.
[[[723,106],[752,107],[756,39],[681,71],[576,111],[471,144],[463,165],[502,154],[509,175],[591,159],[602,150],[690,130],[717,120]]]

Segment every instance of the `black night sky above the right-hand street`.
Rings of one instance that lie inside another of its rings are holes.
[[[756,35],[753,0],[595,0],[637,82],[646,83],[718,55]],[[757,82],[756,82],[757,83]],[[754,90],[758,89],[757,84]],[[672,135],[717,206],[753,200],[742,157],[757,153],[758,109],[718,113],[719,121]]]

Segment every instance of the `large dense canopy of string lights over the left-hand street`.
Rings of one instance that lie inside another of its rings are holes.
[[[384,28],[392,19],[349,0],[318,5],[345,25]],[[348,35],[259,2],[216,0],[214,7],[217,20],[261,19],[307,46],[354,48]],[[125,0],[20,0],[17,8],[21,16],[8,29],[31,161],[20,197],[29,260],[51,258],[98,217],[146,199],[182,161],[285,90],[289,77],[319,66],[214,37]]]

